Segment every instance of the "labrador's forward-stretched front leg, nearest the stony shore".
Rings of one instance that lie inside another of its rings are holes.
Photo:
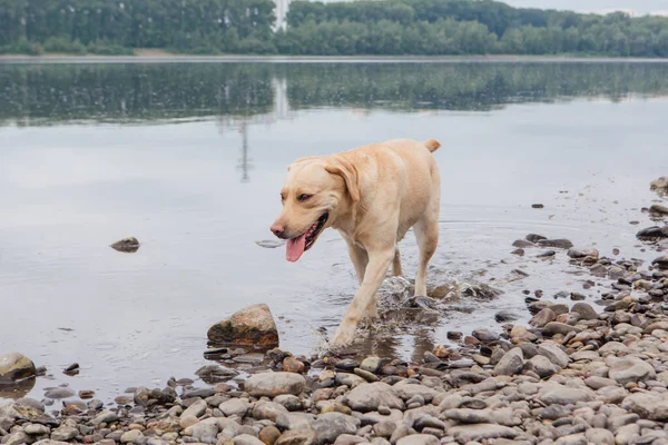
[[[332,346],[341,347],[353,342],[360,320],[375,307],[376,291],[381,287],[393,258],[394,248],[369,254],[364,279],[334,334]]]

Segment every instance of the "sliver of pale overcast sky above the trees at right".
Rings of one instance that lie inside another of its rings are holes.
[[[668,11],[668,0],[502,0],[521,8],[574,11],[635,10],[639,14]]]

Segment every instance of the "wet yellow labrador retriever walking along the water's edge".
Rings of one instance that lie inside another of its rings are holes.
[[[402,275],[397,243],[411,227],[420,247],[415,296],[426,296],[426,265],[439,243],[441,179],[432,152],[440,146],[396,139],[288,167],[283,211],[271,228],[287,240],[287,260],[298,260],[332,227],[347,243],[360,280],[331,346],[352,343],[360,322],[377,317],[376,291],[390,265]]]

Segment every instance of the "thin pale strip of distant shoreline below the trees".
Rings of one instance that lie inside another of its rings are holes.
[[[253,63],[445,63],[445,62],[606,62],[668,63],[668,58],[581,57],[581,56],[194,56],[146,51],[135,56],[0,55],[0,63],[178,63],[178,62],[253,62]]]

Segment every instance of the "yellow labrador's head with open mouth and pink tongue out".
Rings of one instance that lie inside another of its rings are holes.
[[[311,157],[293,162],[281,189],[283,211],[271,228],[287,239],[287,260],[299,259],[358,200],[357,170],[345,159]]]

